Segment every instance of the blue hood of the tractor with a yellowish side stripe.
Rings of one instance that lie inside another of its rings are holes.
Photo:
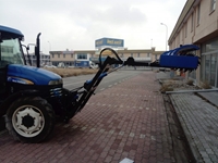
[[[8,82],[32,85],[60,84],[61,77],[52,72],[19,64],[10,64],[7,74]]]

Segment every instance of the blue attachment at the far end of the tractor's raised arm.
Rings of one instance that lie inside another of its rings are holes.
[[[198,57],[191,51],[198,50],[194,45],[185,45],[173,50],[164,52],[160,55],[159,64],[162,67],[196,70],[198,66]]]

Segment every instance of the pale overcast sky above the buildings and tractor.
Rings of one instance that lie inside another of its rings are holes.
[[[166,50],[186,0],[0,0],[0,25],[20,29],[24,43],[41,33],[41,51],[94,50],[95,40],[124,39],[128,49]]]

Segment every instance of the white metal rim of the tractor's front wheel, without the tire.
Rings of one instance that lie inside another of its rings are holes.
[[[43,112],[33,105],[22,105],[12,115],[14,129],[23,137],[37,136],[45,126]]]

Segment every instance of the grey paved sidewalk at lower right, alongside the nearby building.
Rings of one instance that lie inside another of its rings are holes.
[[[169,78],[169,74],[158,73],[156,77],[166,79]],[[217,163],[218,109],[216,104],[218,93],[213,91],[169,96],[196,162]]]

